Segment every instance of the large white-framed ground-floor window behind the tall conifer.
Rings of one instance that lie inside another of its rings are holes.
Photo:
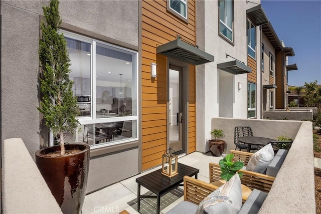
[[[91,146],[137,139],[137,52],[62,31],[80,126],[69,142]]]

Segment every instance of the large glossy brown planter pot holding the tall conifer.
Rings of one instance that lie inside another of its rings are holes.
[[[36,164],[64,213],[81,213],[85,199],[90,146],[65,144],[65,150],[79,149],[75,154],[46,156],[60,151],[60,145],[36,152]]]

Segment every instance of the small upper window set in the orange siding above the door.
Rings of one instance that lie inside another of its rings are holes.
[[[188,0],[167,0],[167,10],[188,22]]]

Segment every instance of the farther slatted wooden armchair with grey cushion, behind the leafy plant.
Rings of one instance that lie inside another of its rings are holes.
[[[254,153],[236,150],[231,150],[231,153],[234,154],[233,162],[242,161],[244,163],[244,169],[239,170],[239,172],[243,172],[241,183],[248,186],[252,190],[259,189],[264,192],[269,192],[272,187],[273,181],[275,180],[276,174],[281,168],[281,165],[287,155],[287,150],[278,150],[264,174],[248,171],[245,169],[249,162],[249,159]],[[210,163],[210,183],[217,180],[222,180],[220,165],[217,163]]]

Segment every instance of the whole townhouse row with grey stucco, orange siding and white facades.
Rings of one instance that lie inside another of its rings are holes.
[[[54,142],[36,108],[47,4],[1,1],[1,140],[21,137],[32,157]],[[260,119],[274,108],[274,85],[286,91],[285,60],[294,52],[279,44],[258,4],[60,2],[81,111],[80,131],[67,141],[91,145],[87,192],[158,166],[170,147],[209,151],[213,117]]]

